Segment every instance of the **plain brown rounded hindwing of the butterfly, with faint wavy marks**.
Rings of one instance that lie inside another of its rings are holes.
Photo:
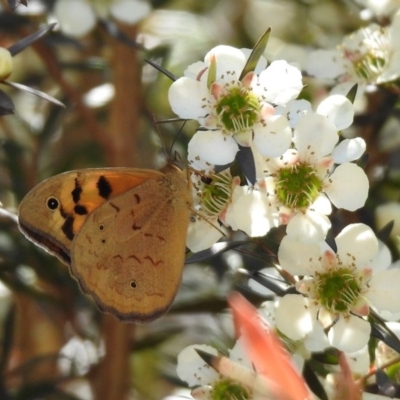
[[[138,322],[168,310],[181,281],[190,201],[184,172],[171,165],[88,216],[73,241],[71,273],[100,309]]]

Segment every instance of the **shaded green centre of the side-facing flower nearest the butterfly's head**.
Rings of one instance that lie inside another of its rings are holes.
[[[229,170],[205,178],[201,189],[202,207],[207,214],[218,216],[232,194],[232,176]]]

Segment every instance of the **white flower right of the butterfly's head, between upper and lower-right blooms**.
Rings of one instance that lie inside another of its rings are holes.
[[[267,215],[279,215],[287,233],[303,241],[321,241],[331,224],[331,203],[354,211],[368,195],[364,171],[349,162],[365,149],[362,139],[339,140],[336,126],[320,114],[305,114],[294,129],[295,149],[266,162],[264,182]],[[341,163],[334,166],[335,163]]]

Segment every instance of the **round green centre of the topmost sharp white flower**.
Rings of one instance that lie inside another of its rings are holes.
[[[215,106],[222,126],[229,132],[242,132],[260,119],[260,104],[251,91],[234,87],[222,96]]]

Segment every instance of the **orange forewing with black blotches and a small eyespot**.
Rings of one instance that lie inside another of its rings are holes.
[[[160,176],[159,171],[132,168],[84,169],[53,176],[22,200],[18,213],[20,230],[69,265],[72,241],[91,212],[109,199]]]

